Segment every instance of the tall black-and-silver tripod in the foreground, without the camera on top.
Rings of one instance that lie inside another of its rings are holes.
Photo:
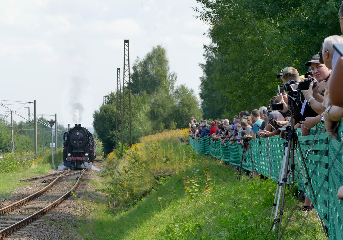
[[[286,193],[286,183],[289,182],[289,177],[292,177],[292,182],[293,184],[295,183],[294,179],[294,172],[295,172],[295,164],[294,164],[294,158],[296,158],[298,166],[300,168],[300,173],[301,176],[303,177],[303,181],[305,183],[306,189],[309,192],[309,189],[311,190],[311,194],[314,198],[315,205],[317,206],[317,199],[316,195],[314,193],[314,190],[312,188],[311,184],[311,178],[309,176],[306,163],[305,163],[305,158],[304,155],[301,151],[300,144],[299,144],[299,139],[298,135],[295,132],[294,129],[294,105],[295,105],[295,98],[290,97],[291,100],[291,126],[287,127],[287,132],[285,133],[285,138],[288,142],[286,142],[286,147],[285,147],[285,153],[284,153],[284,158],[282,161],[282,166],[281,166],[281,171],[280,171],[280,176],[279,176],[279,181],[277,182],[277,188],[276,188],[276,193],[275,193],[275,199],[273,203],[273,211],[272,211],[272,219],[273,219],[273,214],[274,214],[274,209],[275,209],[275,216],[274,216],[274,221],[271,227],[271,230],[274,231],[276,223],[279,223],[279,232],[277,239],[280,239],[281,235],[281,223],[282,223],[282,215],[284,211],[284,206],[285,206],[285,193]],[[307,178],[305,179],[302,166],[299,162],[297,154],[294,153],[294,150],[298,147],[299,153],[301,160],[303,161],[304,169],[306,172]],[[291,164],[289,159],[291,158]],[[290,167],[290,168],[289,168]],[[306,181],[307,180],[307,181]],[[282,195],[281,195],[281,189],[282,189]],[[280,212],[279,212],[279,217],[277,218],[277,210],[279,208],[279,203],[280,203],[280,195],[281,195],[281,205],[280,205]],[[319,217],[319,216],[318,216]]]

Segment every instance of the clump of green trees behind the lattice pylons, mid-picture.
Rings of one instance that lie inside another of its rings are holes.
[[[191,116],[202,117],[194,92],[184,85],[174,89],[177,75],[169,69],[166,50],[160,45],[153,47],[142,60],[137,58],[134,61],[131,73],[133,142],[138,141],[141,136],[165,129],[188,127]],[[115,93],[110,93],[107,99],[107,104],[100,106],[93,115],[93,126],[103,142],[106,154],[120,146],[115,137]],[[121,129],[118,134],[121,141]],[[129,142],[129,139],[126,139],[126,142]]]

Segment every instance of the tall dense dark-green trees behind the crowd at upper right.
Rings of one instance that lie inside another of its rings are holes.
[[[282,84],[276,74],[300,74],[325,37],[340,34],[341,1],[197,0],[198,17],[211,28],[201,64],[204,117],[235,115],[268,103]],[[214,98],[213,98],[214,97]],[[225,103],[218,107],[218,101]],[[228,106],[225,106],[228,105]]]

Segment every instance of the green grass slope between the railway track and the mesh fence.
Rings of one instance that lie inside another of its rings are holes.
[[[82,201],[88,206],[89,215],[76,223],[76,229],[84,239],[277,238],[277,228],[274,233],[268,233],[275,182],[249,179],[242,175],[240,183],[237,183],[237,171],[229,165],[223,165],[211,156],[198,155],[191,146],[177,141],[162,143],[155,145],[161,149],[156,148],[154,152],[168,154],[168,163],[152,160],[154,167],[146,166],[149,165],[146,162],[141,171],[164,169],[163,172],[167,172],[168,164],[177,161],[178,166],[172,165],[170,176],[158,178],[152,190],[146,192],[141,201],[138,197],[133,203],[129,191],[134,188],[134,183],[130,183],[126,200],[129,204],[125,204],[126,207],[123,207],[123,199],[118,200],[122,204],[118,207],[116,203],[85,196]],[[173,154],[166,152],[168,148],[172,149]],[[180,153],[184,154],[182,161],[176,159]],[[137,159],[133,164],[135,162],[140,163]],[[137,173],[130,171],[128,165],[126,167],[124,176]],[[117,191],[120,188],[125,192],[125,188],[129,187],[128,183],[125,187],[119,182],[119,187],[113,185],[116,181],[122,181],[123,176],[113,172],[107,178],[110,176],[109,183],[112,185],[107,185],[107,189]],[[115,196],[111,196],[113,201]],[[326,239],[320,232],[315,212],[297,211],[299,204],[293,197],[289,198],[283,216],[282,238]]]

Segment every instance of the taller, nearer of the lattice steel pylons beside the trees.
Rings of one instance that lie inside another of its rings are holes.
[[[121,155],[123,145],[132,145],[132,122],[131,122],[131,82],[130,82],[130,57],[129,40],[124,40],[124,68],[123,68],[123,94],[121,105]],[[126,136],[130,134],[130,140]]]

